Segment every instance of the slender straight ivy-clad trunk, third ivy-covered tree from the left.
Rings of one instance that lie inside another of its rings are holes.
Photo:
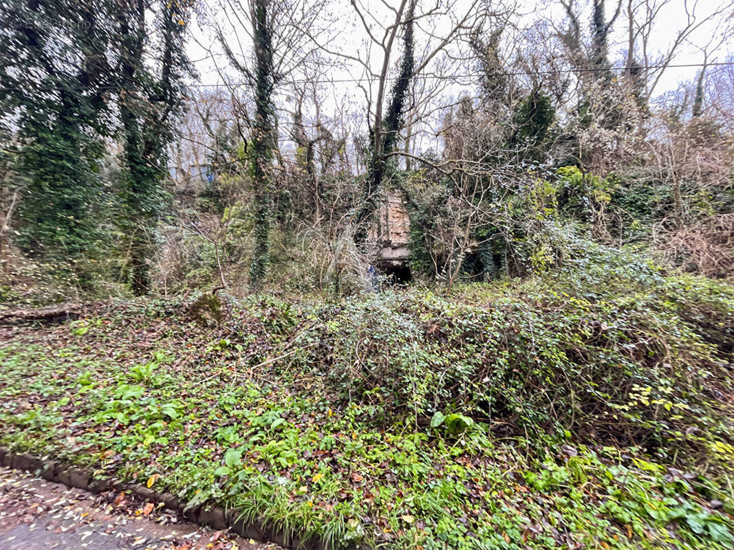
[[[255,249],[250,264],[250,285],[262,284],[270,263],[272,226],[272,158],[275,150],[272,21],[268,1],[255,0],[252,32],[255,43],[255,121],[252,127],[252,184],[255,188]]]

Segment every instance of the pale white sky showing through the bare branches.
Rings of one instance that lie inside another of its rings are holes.
[[[219,0],[223,3],[228,0]],[[238,0],[232,0],[238,1]],[[247,0],[239,0],[242,5],[247,5]],[[296,0],[294,0],[296,1]],[[306,0],[308,1],[308,0]],[[384,3],[390,5],[399,4],[399,0],[357,0],[361,2],[365,7],[365,14],[368,18],[374,18],[374,21],[388,21],[390,18],[390,12],[385,8]],[[449,29],[451,29],[451,20],[455,20],[461,13],[468,9],[470,4],[477,0],[438,0],[439,3],[445,7],[446,4],[450,4],[452,7],[451,13],[443,18],[438,18],[434,21],[432,30],[435,34],[443,36]],[[485,0],[490,1],[494,7],[504,1],[505,4],[509,4],[513,0]],[[582,4],[590,4],[589,0],[576,0],[581,1]],[[642,4],[645,0],[633,0],[633,4]],[[724,3],[724,0],[650,0],[653,3],[663,3],[664,7],[658,12],[653,23],[653,32],[650,37],[650,45],[654,51],[665,52],[668,50],[669,45],[675,40],[677,32],[683,28],[686,24],[686,4],[688,10],[695,9],[695,13],[698,16],[699,21],[705,18],[706,15],[716,9],[717,6]],[[726,0],[728,1],[728,0]],[[244,21],[244,18],[239,17],[238,14],[233,13],[233,10],[221,10],[216,9],[217,0],[208,0],[208,12],[212,20],[219,21],[223,28],[228,29],[225,34],[228,34],[228,38],[232,43],[237,43],[238,40],[242,43],[243,51],[247,51],[248,38],[247,33],[240,32],[235,29],[238,25],[238,21]],[[419,6],[423,9],[435,4],[436,0],[419,0]],[[484,3],[481,0],[480,4]],[[614,0],[607,0],[607,17],[611,16],[611,11],[614,9]],[[617,18],[614,24],[614,33],[611,37],[609,45],[609,56],[614,66],[622,66],[625,63],[625,51],[627,41],[627,22],[625,10],[628,4],[628,0],[622,0],[622,13]],[[726,10],[727,18],[719,18],[715,21],[708,21],[700,29],[691,34],[689,40],[680,46],[677,50],[675,59],[672,60],[672,64],[683,65],[683,64],[697,64],[701,63],[704,59],[701,48],[705,48],[707,44],[711,43],[712,37],[721,33],[727,24],[732,25],[734,23],[733,16],[733,5],[732,1]],[[530,26],[531,23],[537,21],[538,18],[550,18],[554,21],[556,26],[562,26],[564,22],[564,12],[562,7],[559,5],[558,0],[517,0],[517,13],[518,15],[513,18],[513,21],[518,26]],[[588,6],[587,6],[588,9]],[[368,45],[368,37],[363,27],[361,26],[359,19],[352,6],[349,4],[349,0],[330,0],[330,4],[327,9],[322,12],[324,18],[324,26],[329,27],[329,36],[326,35],[321,37],[324,43],[327,43],[329,48],[338,50],[347,54],[364,56]],[[234,21],[233,24],[230,24]],[[222,23],[223,22],[223,23]],[[241,23],[240,23],[241,24]],[[586,15],[581,19],[583,26],[583,32],[588,33],[589,31],[589,17]],[[228,64],[222,56],[220,48],[215,43],[211,26],[203,24],[203,21],[199,19],[192,25],[193,39],[189,41],[189,56],[195,62],[195,67],[200,76],[200,84],[206,86],[216,86],[222,84],[222,72],[229,75],[229,78],[238,80],[236,72],[228,68]],[[233,30],[235,29],[235,30]],[[238,37],[235,38],[234,34]],[[734,54],[734,40],[731,39],[733,34],[729,33],[730,39],[724,41],[716,51],[709,53],[709,62],[722,62],[727,59],[732,59]],[[416,32],[416,41],[421,44],[427,40],[426,29],[423,29],[421,34],[420,29]],[[512,37],[506,35],[506,43],[511,42]],[[715,43],[719,43],[716,40]],[[711,49],[711,45],[709,45]],[[392,59],[390,59],[390,66],[394,67],[399,59],[399,44],[395,48]],[[377,52],[375,52],[377,53]],[[246,62],[249,61],[246,56],[243,58]],[[355,62],[344,61],[344,59],[330,58],[327,56],[327,60],[330,63],[327,64],[324,76],[321,76],[324,81],[334,81],[328,84],[324,82],[320,86],[320,93],[322,95],[321,101],[323,102],[323,109],[326,112],[326,117],[338,116],[338,111],[344,106],[348,107],[345,110],[353,111],[356,117],[360,117],[360,120],[355,120],[355,126],[360,126],[359,131],[366,132],[366,110],[364,109],[366,103],[366,92],[368,89],[372,95],[375,93],[374,81],[363,78],[363,70]],[[437,56],[435,63],[440,63],[442,58]],[[443,58],[446,62],[446,58]],[[382,62],[379,55],[375,55],[371,62],[372,67],[377,67]],[[217,67],[219,65],[219,67]],[[435,64],[433,64],[435,65]],[[472,67],[462,67],[459,62],[449,62],[448,71],[454,74],[466,74],[471,72]],[[428,67],[427,70],[431,70]],[[667,69],[664,76],[661,78],[658,87],[655,89],[655,95],[660,95],[664,92],[676,89],[681,81],[691,81],[697,75],[699,67],[671,67]],[[296,71],[297,72],[297,71]],[[297,77],[295,77],[297,78]],[[349,81],[350,78],[359,80],[361,82]],[[373,79],[374,80],[374,79]],[[464,78],[464,79],[453,79],[451,84],[446,86],[441,92],[440,98],[433,101],[437,106],[450,105],[460,95],[469,94],[476,95],[476,79]],[[368,93],[369,93],[368,92]],[[281,90],[280,101],[281,106],[286,106],[287,103],[287,92]],[[435,114],[434,124],[438,119],[439,114]],[[431,146],[430,143],[424,142],[424,147]]]

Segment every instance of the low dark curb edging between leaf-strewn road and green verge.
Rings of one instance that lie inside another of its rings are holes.
[[[181,513],[187,520],[212,529],[230,529],[244,538],[252,538],[264,543],[276,543],[293,550],[326,550],[321,540],[303,539],[298,535],[287,537],[285,533],[264,525],[262,521],[249,523],[240,517],[237,510],[220,506],[195,507],[186,509],[186,502],[171,493],[153,491],[141,483],[123,483],[119,480],[94,479],[84,470],[65,466],[59,461],[42,460],[26,452],[16,453],[7,447],[0,447],[0,466],[24,470],[40,475],[44,480],[62,483],[68,487],[82,489],[92,494],[102,491],[130,491],[135,496],[150,502],[162,502],[169,510]]]

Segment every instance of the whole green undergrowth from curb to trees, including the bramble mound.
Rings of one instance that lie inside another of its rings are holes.
[[[10,327],[0,441],[335,547],[729,548],[734,289],[597,252]]]

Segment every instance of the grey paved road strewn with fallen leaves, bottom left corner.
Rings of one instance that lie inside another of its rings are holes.
[[[109,492],[97,496],[0,468],[0,550],[282,550]]]

